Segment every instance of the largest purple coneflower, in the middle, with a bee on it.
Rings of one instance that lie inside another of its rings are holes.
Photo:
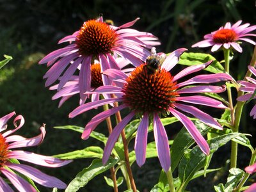
[[[209,97],[199,95],[182,95],[185,93],[202,92],[220,93],[225,91],[225,86],[184,86],[198,83],[226,81],[231,80],[232,77],[228,76],[228,74],[207,74],[198,75],[188,79],[187,81],[178,83],[180,78],[188,74],[192,74],[193,72],[198,72],[211,63],[208,62],[203,65],[187,67],[175,76],[172,76],[169,71],[177,64],[180,54],[184,51],[186,51],[186,49],[177,49],[176,51],[173,51],[164,60],[163,65],[158,67],[156,71],[152,70],[152,68],[150,69],[150,67],[147,66],[147,63],[136,67],[129,76],[115,69],[104,71],[106,76],[113,77],[115,79],[113,80],[113,82],[115,82],[115,86],[100,86],[93,93],[113,93],[116,95],[116,98],[89,102],[79,106],[70,113],[70,118],[73,118],[85,111],[104,104],[111,104],[114,102],[122,103],[120,106],[99,113],[92,118],[92,120],[86,125],[82,134],[82,138],[87,139],[95,127],[97,127],[97,125],[99,125],[100,122],[108,116],[111,116],[122,109],[129,109],[129,115],[125,116],[122,122],[116,125],[113,132],[109,135],[106,147],[104,148],[104,156],[102,158],[103,163],[108,161],[120,132],[134,115],[141,116],[141,122],[138,127],[135,140],[136,161],[139,166],[142,166],[145,163],[148,125],[152,122],[159,161],[165,172],[170,168],[170,148],[168,145],[168,137],[160,120],[161,115],[166,116],[170,113],[182,122],[202,151],[205,154],[209,154],[209,145],[205,141],[204,137],[200,134],[198,129],[196,129],[193,122],[180,111],[190,113],[211,127],[222,129],[221,125],[218,124],[214,118],[189,104],[200,104],[221,109],[225,109],[226,107],[220,101]],[[184,102],[184,104],[181,102]]]

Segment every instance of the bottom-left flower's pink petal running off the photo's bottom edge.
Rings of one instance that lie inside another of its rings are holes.
[[[12,182],[13,186],[20,192],[35,191],[36,189],[31,186],[26,180],[22,179],[18,175],[4,168],[0,168],[1,173],[3,173]]]

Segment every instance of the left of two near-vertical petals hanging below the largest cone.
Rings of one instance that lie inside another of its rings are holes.
[[[146,161],[146,149],[148,138],[148,114],[144,113],[135,138],[134,150],[138,166],[142,166]]]

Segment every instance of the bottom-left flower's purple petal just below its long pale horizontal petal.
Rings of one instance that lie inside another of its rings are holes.
[[[56,177],[52,177],[50,175],[46,175],[45,173],[33,168],[31,166],[25,164],[13,164],[13,163],[6,163],[9,168],[26,175],[30,179],[34,180],[38,184],[45,186],[47,188],[59,188],[65,189],[67,185],[62,182],[60,179]]]

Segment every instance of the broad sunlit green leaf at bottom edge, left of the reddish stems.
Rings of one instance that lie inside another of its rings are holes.
[[[109,158],[108,162],[105,166],[102,164],[102,159],[94,159],[92,164],[88,166],[88,168],[84,168],[81,172],[77,173],[75,179],[73,179],[70,184],[68,184],[66,192],[75,192],[78,191],[79,188],[82,188],[90,180],[92,180],[95,176],[100,173],[106,172],[112,166],[118,163],[117,159]]]

